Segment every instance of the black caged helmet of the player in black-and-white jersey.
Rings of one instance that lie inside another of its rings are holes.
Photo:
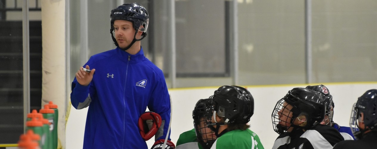
[[[292,108],[286,108],[287,106],[284,106],[284,102],[291,105]],[[280,112],[283,109],[287,109],[288,112]],[[325,110],[325,103],[316,91],[307,88],[293,88],[288,91],[282,99],[277,101],[272,112],[271,116],[274,131],[278,134],[283,134],[290,127],[305,129],[316,126],[325,117]],[[280,120],[280,114],[287,116],[289,119]],[[299,115],[304,115],[306,117],[305,126],[293,124],[293,121],[299,117]],[[281,123],[284,123],[284,125]]]

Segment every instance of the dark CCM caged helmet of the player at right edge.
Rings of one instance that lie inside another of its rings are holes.
[[[365,129],[357,129],[360,113],[363,113]],[[365,131],[377,129],[377,89],[370,89],[360,96],[353,105],[349,126],[356,138],[361,138]],[[377,131],[377,130],[376,130]]]

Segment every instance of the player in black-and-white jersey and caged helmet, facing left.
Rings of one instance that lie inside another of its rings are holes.
[[[277,101],[272,112],[274,131],[279,134],[273,149],[332,149],[344,140],[333,127],[319,124],[325,103],[311,89],[293,88]]]

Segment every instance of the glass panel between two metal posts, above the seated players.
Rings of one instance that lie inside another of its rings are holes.
[[[240,85],[305,82],[305,1],[238,1]]]

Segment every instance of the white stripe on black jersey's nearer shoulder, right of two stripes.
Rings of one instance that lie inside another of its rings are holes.
[[[300,138],[309,140],[314,149],[332,149],[333,146],[315,130],[307,130]]]

